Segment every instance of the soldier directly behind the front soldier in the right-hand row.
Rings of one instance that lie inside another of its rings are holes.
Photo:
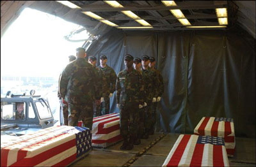
[[[136,69],[136,71],[138,71],[141,74],[142,77],[142,85],[144,86],[144,93],[143,93],[143,108],[139,109],[139,125],[138,125],[138,135],[136,138],[136,142],[134,142],[134,145],[136,145],[136,143],[140,144],[140,139],[143,137],[144,131],[145,131],[145,107],[147,106],[147,90],[145,89],[145,83],[144,83],[144,78],[142,76],[142,71],[141,71],[141,59],[136,57],[135,59],[133,59],[133,67],[134,69]]]

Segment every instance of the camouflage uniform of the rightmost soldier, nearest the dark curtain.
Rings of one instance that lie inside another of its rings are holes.
[[[156,76],[157,76],[157,78],[156,78],[156,84],[157,84],[156,92],[157,92],[157,96],[156,97],[161,97],[163,95],[163,92],[164,92],[163,76],[161,75],[160,71],[158,71],[157,69],[155,69],[155,68],[150,68],[150,69],[152,71],[155,71],[156,72]],[[154,133],[154,125],[156,124],[156,117],[157,117],[156,108],[157,108],[157,102],[153,103],[153,107],[152,107],[152,110],[153,110],[153,124],[150,127],[151,133]]]

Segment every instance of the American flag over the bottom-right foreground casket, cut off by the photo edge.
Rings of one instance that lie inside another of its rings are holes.
[[[224,140],[180,134],[163,166],[229,166]]]

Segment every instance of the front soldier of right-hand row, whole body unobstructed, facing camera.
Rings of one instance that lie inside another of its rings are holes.
[[[131,150],[138,134],[138,110],[143,107],[143,85],[140,73],[132,68],[133,57],[125,55],[125,69],[116,78],[116,101],[120,108],[121,150]],[[128,141],[129,138],[129,141]]]

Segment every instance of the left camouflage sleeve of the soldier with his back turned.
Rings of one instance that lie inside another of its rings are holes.
[[[66,68],[62,71],[60,80],[59,80],[59,93],[61,98],[65,99],[65,96],[67,94],[67,86],[68,86],[68,76],[70,73],[70,64],[66,66]]]

